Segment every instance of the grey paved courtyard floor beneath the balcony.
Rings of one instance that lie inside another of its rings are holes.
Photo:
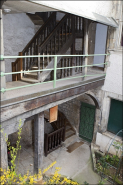
[[[67,151],[69,145],[80,141],[81,139],[74,135],[68,138],[62,147],[51,152],[47,157],[44,156],[42,170],[56,161],[56,164],[46,174],[51,175],[54,173],[55,167],[61,167],[59,172],[61,175],[72,178],[80,184],[83,184],[85,181],[90,184],[98,184],[100,176],[93,171],[90,146],[87,143],[83,143],[71,153]],[[29,170],[33,174],[33,147],[22,146],[19,156],[18,173],[25,174]]]

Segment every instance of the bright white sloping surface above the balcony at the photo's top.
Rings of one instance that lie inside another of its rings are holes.
[[[94,12],[107,17],[115,18],[113,9],[116,1],[37,1],[44,5],[64,10],[73,10],[74,12]]]

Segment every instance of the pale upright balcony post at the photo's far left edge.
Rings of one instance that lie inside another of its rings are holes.
[[[2,16],[2,9],[0,9],[0,55],[1,58],[4,55],[4,46],[3,46],[3,16]],[[4,59],[1,59],[0,61],[0,72],[5,73],[5,61]],[[6,78],[5,76],[0,76],[0,87],[1,89],[4,88],[6,89]],[[1,100],[6,99],[6,92],[1,93]]]

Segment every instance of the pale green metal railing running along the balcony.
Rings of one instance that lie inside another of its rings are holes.
[[[29,84],[29,85],[25,85],[25,86],[20,86],[20,87],[13,87],[13,88],[2,88],[0,90],[0,92],[4,93],[5,91],[10,91],[10,90],[15,90],[15,89],[20,89],[20,88],[25,88],[25,87],[31,87],[31,86],[36,86],[39,84],[44,84],[44,83],[49,83],[49,82],[53,82],[53,88],[56,87],[56,81],[61,81],[61,80],[69,80],[69,79],[75,79],[75,78],[81,78],[81,77],[87,77],[87,76],[99,76],[100,74],[95,74],[95,75],[82,75],[82,76],[74,76],[74,77],[69,77],[69,78],[62,78],[62,79],[56,79],[56,71],[57,69],[69,69],[69,68],[77,68],[77,67],[88,67],[88,66],[99,66],[102,64],[107,64],[107,62],[105,63],[101,63],[101,64],[93,64],[93,65],[82,65],[82,66],[72,66],[72,67],[61,67],[61,68],[57,68],[57,57],[65,57],[65,56],[69,56],[69,57],[89,57],[89,56],[102,56],[102,55],[110,55],[110,54],[91,54],[91,55],[29,55],[29,56],[0,56],[0,59],[7,59],[7,58],[28,58],[28,57],[54,57],[54,68],[51,69],[40,69],[40,70],[30,70],[30,71],[19,71],[19,72],[9,72],[9,73],[4,73],[1,72],[0,76],[3,77],[5,75],[10,75],[10,74],[19,74],[19,73],[30,73],[30,72],[38,72],[38,71],[48,71],[48,70],[54,70],[54,80],[52,81],[47,81],[47,82],[37,82],[35,84]],[[101,75],[106,75],[105,73],[101,73]]]

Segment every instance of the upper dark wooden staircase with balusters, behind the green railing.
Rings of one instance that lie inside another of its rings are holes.
[[[32,15],[29,15],[32,16]],[[35,24],[36,17],[39,17],[39,14],[34,14],[32,17]],[[34,18],[35,17],[35,18]],[[46,17],[45,17],[46,18]],[[75,44],[75,37],[78,34],[82,36],[82,18],[73,16],[71,14],[66,14],[59,22],[56,21],[56,12],[53,12],[49,15],[45,23],[37,31],[35,36],[31,41],[26,45],[22,52],[19,55],[62,55],[67,52],[69,48],[72,47],[73,43]],[[75,52],[75,51],[74,51]],[[83,52],[83,51],[82,51]],[[75,53],[74,53],[75,54]],[[57,65],[61,67],[71,67],[77,64],[77,57],[74,59],[72,57],[58,57]],[[82,65],[83,58],[79,57],[78,65]],[[25,58],[17,59],[15,62],[12,62],[12,72],[25,71],[24,74],[13,74],[12,80],[22,80],[28,83],[37,83],[39,81],[43,82],[45,80],[53,80],[52,70],[43,71],[43,72],[31,72],[28,70],[37,70],[37,69],[51,69],[54,67],[54,58]],[[82,68],[78,68],[79,72],[82,72]],[[74,74],[76,71],[74,72]],[[64,78],[67,76],[72,76],[73,70],[63,69],[57,70],[57,78]]]

